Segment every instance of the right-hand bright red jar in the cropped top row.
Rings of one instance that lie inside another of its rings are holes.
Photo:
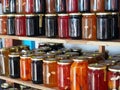
[[[66,12],[77,13],[78,12],[78,0],[66,0]]]

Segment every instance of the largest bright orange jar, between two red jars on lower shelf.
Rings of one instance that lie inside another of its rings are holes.
[[[83,57],[73,60],[70,69],[71,90],[88,90],[88,61]]]

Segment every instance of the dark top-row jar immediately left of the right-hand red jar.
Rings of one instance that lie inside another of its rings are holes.
[[[56,12],[57,13],[66,12],[66,0],[56,0]]]

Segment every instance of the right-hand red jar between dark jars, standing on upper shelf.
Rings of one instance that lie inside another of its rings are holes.
[[[69,16],[68,14],[58,14],[58,37],[69,38]]]

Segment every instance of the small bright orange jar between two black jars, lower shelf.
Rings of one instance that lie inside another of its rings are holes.
[[[20,57],[20,78],[22,80],[31,80],[31,57],[22,55]]]

